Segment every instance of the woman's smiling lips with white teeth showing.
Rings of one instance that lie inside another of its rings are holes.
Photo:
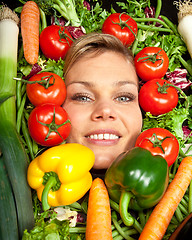
[[[112,129],[98,129],[85,136],[87,142],[99,146],[112,146],[119,142],[121,134]]]

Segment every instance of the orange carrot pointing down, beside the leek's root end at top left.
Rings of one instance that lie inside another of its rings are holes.
[[[28,1],[21,11],[21,35],[23,39],[24,57],[29,64],[35,64],[39,54],[39,19],[37,4]]]

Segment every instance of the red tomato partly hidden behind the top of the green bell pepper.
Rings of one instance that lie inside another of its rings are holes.
[[[153,155],[160,155],[171,166],[179,154],[177,138],[164,128],[150,128],[142,132],[136,140],[135,147],[149,150]]]

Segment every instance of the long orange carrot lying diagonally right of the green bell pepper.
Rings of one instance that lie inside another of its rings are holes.
[[[163,198],[151,213],[139,240],[162,239],[192,179],[192,157],[185,157]]]

